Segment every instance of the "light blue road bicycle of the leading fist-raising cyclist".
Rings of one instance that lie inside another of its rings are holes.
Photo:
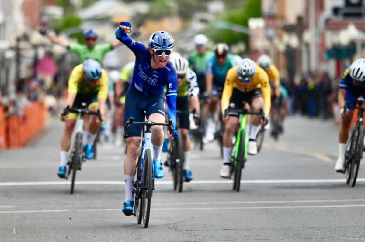
[[[126,123],[126,133],[124,138],[128,138],[128,132],[131,125],[143,125],[142,131],[142,152],[138,157],[137,172],[134,181],[134,213],[137,217],[137,223],[141,224],[143,221],[143,227],[147,228],[150,219],[151,199],[152,193],[155,189],[154,186],[154,166],[153,166],[153,146],[152,146],[152,132],[151,127],[154,125],[167,126],[170,134],[174,133],[172,121],[168,123],[154,123],[151,121],[134,122],[133,118],[130,118]],[[146,130],[145,130],[146,129]]]

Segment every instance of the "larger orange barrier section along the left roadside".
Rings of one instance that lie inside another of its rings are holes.
[[[35,102],[24,108],[24,115],[14,115],[8,120],[9,148],[22,147],[38,134],[47,120],[47,110],[43,103]]]

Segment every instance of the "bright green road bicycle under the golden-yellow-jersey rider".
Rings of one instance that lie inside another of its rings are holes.
[[[243,104],[243,107],[245,104]],[[245,162],[247,160],[247,143],[248,143],[248,132],[246,132],[247,115],[261,115],[262,119],[266,120],[264,111],[261,109],[260,112],[249,111],[246,108],[234,109],[228,108],[226,111],[239,113],[239,130],[235,143],[232,146],[231,151],[231,172],[230,179],[233,179],[233,190],[239,191],[241,184],[241,173],[242,169],[245,167]],[[267,120],[266,120],[267,123]]]

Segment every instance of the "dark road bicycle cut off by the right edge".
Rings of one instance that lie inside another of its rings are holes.
[[[364,111],[365,108],[362,106],[365,103],[363,98],[357,99],[357,106],[355,109],[358,110],[357,122],[354,130],[346,144],[345,152],[345,173],[346,173],[346,184],[351,187],[356,185],[357,174],[359,172],[360,161],[364,151]],[[344,110],[346,110],[346,104]]]

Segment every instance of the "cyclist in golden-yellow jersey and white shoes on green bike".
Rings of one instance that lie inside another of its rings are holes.
[[[263,108],[265,116],[270,112],[270,84],[269,76],[255,62],[245,58],[237,67],[233,67],[227,72],[226,81],[224,82],[222,94],[222,113],[225,113],[228,107],[241,109],[242,102],[246,102],[246,108],[259,112]],[[223,123],[226,124],[223,135],[223,159],[224,164],[220,169],[220,176],[228,178],[230,175],[230,155],[232,147],[232,136],[237,127],[238,113],[228,112]],[[260,116],[253,116],[251,119],[251,130],[249,134],[248,150],[250,155],[257,154],[256,136],[260,131],[260,125],[267,122]]]

